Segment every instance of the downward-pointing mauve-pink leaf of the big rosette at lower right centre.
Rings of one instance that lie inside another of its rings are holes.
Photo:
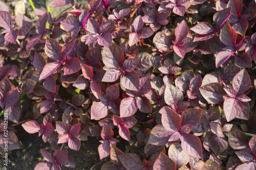
[[[200,139],[191,134],[183,133],[180,137],[181,147],[189,156],[202,158],[202,145]]]

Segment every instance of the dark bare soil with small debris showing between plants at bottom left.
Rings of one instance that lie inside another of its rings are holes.
[[[38,133],[29,134],[27,133],[21,125],[16,126],[17,130],[15,134],[17,135],[22,149],[13,150],[9,153],[8,157],[8,170],[33,170],[37,163],[44,161],[41,156],[40,149],[46,150],[53,153],[51,145],[48,142],[42,141],[41,136],[38,137]],[[88,170],[94,165],[94,170],[100,169],[102,164],[109,161],[109,157],[100,160],[98,154],[98,145],[100,144],[100,137],[88,136],[87,141],[81,141],[81,147],[79,151],[74,151],[68,148],[66,144],[63,149],[67,149],[69,154],[73,157],[75,161],[75,168],[65,167],[61,165],[61,169],[84,169]],[[4,162],[0,162],[1,170],[6,169]]]

